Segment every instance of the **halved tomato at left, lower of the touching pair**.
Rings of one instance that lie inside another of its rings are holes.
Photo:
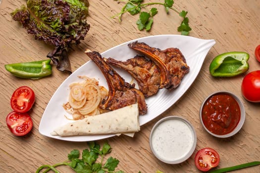
[[[16,136],[23,136],[33,128],[33,121],[27,113],[12,111],[7,115],[5,121],[9,130]]]

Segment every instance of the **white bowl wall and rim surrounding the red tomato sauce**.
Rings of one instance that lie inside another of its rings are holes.
[[[209,99],[209,97],[211,97],[211,96],[213,96],[215,94],[221,94],[221,93],[229,94],[230,96],[232,96],[237,101],[237,103],[239,105],[239,108],[240,108],[240,120],[239,120],[237,126],[231,132],[229,132],[227,134],[222,134],[222,135],[221,134],[215,134],[212,131],[208,130],[207,127],[205,126],[205,124],[203,123],[203,119],[202,119],[202,110],[203,110],[203,107],[204,107],[205,103]],[[200,109],[200,120],[201,120],[201,123],[202,123],[203,127],[205,128],[206,131],[208,131],[209,134],[211,134],[211,135],[213,135],[215,137],[219,137],[219,138],[226,138],[226,137],[230,137],[230,136],[233,136],[234,134],[236,134],[242,128],[242,126],[244,125],[245,118],[246,118],[246,112],[245,112],[245,108],[244,108],[244,105],[243,105],[242,101],[235,94],[233,94],[232,92],[229,92],[229,91],[216,91],[216,92],[211,93],[203,101],[203,103],[201,105],[201,109]]]

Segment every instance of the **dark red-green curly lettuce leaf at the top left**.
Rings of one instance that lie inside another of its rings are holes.
[[[87,15],[87,0],[27,0],[27,6],[22,5],[11,13],[13,20],[19,21],[28,34],[53,45],[47,57],[58,70],[69,73],[68,51],[87,35],[90,29]]]

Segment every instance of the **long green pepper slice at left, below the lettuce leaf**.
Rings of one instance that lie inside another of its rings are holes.
[[[52,74],[51,59],[4,65],[5,69],[19,78],[39,79]]]

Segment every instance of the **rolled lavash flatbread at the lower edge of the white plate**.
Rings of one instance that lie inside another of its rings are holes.
[[[51,135],[115,134],[137,132],[139,130],[139,109],[136,103],[68,123],[55,129]]]

